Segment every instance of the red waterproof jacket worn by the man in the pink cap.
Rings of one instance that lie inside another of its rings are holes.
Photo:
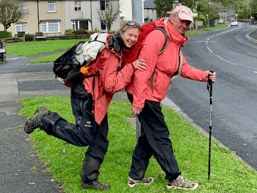
[[[164,34],[160,30],[153,30],[144,40],[138,59],[144,59],[147,64],[146,71],[135,71],[131,83],[126,91],[133,94],[133,107],[142,109],[145,100],[161,102],[166,97],[172,75],[178,71],[179,50],[187,43],[188,38],[183,37],[172,26],[168,18],[158,19],[156,27],[164,27],[169,36],[169,43],[162,54],[159,55],[165,42]],[[206,73],[190,66],[184,55],[180,75],[191,80],[207,82]],[[151,75],[153,74],[153,89],[151,89]]]

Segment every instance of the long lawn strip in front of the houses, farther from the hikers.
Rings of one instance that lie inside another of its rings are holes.
[[[68,39],[68,40],[51,40],[39,42],[17,42],[6,45],[6,53],[17,56],[33,56],[42,53],[50,53],[59,50],[67,50],[77,42],[89,41],[90,39]]]

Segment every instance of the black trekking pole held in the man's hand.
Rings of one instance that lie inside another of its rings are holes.
[[[213,73],[213,71],[210,71]],[[208,83],[207,83],[207,89],[209,91],[210,95],[210,109],[211,109],[211,114],[210,114],[210,125],[209,125],[209,169],[208,169],[208,179],[210,179],[210,174],[211,174],[211,121],[212,121],[212,84],[214,82],[211,81],[211,79],[208,76]]]

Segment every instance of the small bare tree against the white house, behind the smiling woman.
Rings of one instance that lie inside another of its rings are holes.
[[[97,13],[99,20],[107,26],[108,33],[111,32],[111,24],[117,19],[120,12],[120,1],[100,1]]]

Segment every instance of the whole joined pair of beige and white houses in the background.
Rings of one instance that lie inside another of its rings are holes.
[[[112,0],[111,0],[112,1]],[[110,1],[22,1],[25,17],[8,28],[12,36],[19,31],[29,34],[43,32],[44,36],[64,35],[66,29],[101,30],[107,32],[105,24],[99,21],[97,10],[108,10]],[[119,3],[118,0],[113,2]],[[111,30],[120,28],[120,17],[113,21]],[[0,25],[0,30],[3,26]]]

